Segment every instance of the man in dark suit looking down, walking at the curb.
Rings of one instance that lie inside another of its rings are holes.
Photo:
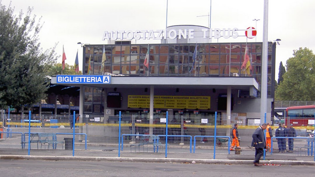
[[[264,149],[266,149],[266,140],[264,134],[264,130],[266,128],[267,124],[263,123],[255,130],[255,132],[252,135],[253,137],[252,146],[255,147],[254,165],[258,167],[262,166],[261,164],[259,164],[259,160],[264,153]]]

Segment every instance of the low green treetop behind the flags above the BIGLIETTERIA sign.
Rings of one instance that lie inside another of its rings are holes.
[[[56,63],[54,65],[49,66],[48,69],[48,75],[82,75],[82,71],[79,71],[79,73],[75,72],[74,65],[65,64],[65,69],[62,70],[62,64]]]

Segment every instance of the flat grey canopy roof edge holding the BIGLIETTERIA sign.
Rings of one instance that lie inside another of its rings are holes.
[[[254,87],[258,90],[258,83],[253,77],[130,77],[112,76],[110,84],[60,84],[57,77],[52,76],[52,84],[64,86],[92,86],[99,88],[183,88],[183,89],[232,89],[249,90]]]

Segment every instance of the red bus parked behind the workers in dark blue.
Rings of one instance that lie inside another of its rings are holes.
[[[314,125],[315,105],[292,106],[285,110],[285,124],[293,126]]]

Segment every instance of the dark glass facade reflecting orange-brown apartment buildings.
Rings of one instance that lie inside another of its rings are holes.
[[[275,44],[268,44],[268,86],[267,96],[273,97]],[[241,69],[245,48],[251,60],[250,75]],[[170,77],[230,77],[251,76],[261,84],[262,43],[198,43],[196,58],[193,54],[196,44],[115,44],[105,45],[105,61],[102,67],[103,45],[83,47],[83,74],[104,73],[125,76],[170,76]],[[149,51],[149,67],[144,61]],[[104,95],[85,87],[84,112],[104,110]],[[93,111],[92,111],[93,110]]]

